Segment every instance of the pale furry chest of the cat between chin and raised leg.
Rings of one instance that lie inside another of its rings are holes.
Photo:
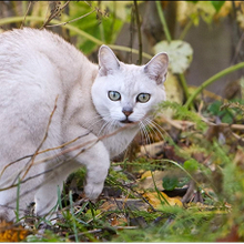
[[[132,130],[124,130],[103,139],[102,141],[110,153],[110,157],[122,153],[129,146],[138,131],[138,128]]]

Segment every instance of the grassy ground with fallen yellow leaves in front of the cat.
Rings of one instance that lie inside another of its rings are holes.
[[[171,154],[165,155],[164,148],[151,159],[140,154],[132,162],[113,162],[96,203],[83,202],[69,190],[74,181],[82,191],[84,170],[79,170],[59,193],[57,223],[29,226],[21,242],[243,242],[243,146],[237,140],[234,146],[227,135],[225,143],[214,134],[206,139],[211,125],[196,125],[189,129],[187,140],[181,131],[177,142],[165,141],[172,143]],[[192,184],[183,201],[187,192],[182,191]]]

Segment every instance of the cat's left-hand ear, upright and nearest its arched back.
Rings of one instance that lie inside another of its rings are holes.
[[[108,45],[99,49],[99,73],[104,77],[120,69],[120,61]]]

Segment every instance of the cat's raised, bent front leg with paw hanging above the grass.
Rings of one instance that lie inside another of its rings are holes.
[[[79,125],[69,125],[65,141],[73,141],[79,134],[85,134],[80,140],[73,142],[68,150],[68,159],[72,161],[72,165],[77,169],[87,167],[84,194],[89,200],[95,200],[101,194],[105,177],[110,167],[110,154],[102,141],[98,141],[98,136],[88,133],[87,129]],[[89,143],[90,142],[90,143]],[[82,146],[83,145],[83,146]],[[77,150],[75,146],[81,146]]]

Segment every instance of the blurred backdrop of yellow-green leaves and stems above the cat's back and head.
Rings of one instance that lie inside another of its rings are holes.
[[[102,43],[135,64],[166,51],[167,99],[181,104],[209,78],[244,60],[242,1],[0,1],[0,31],[22,27],[58,32],[94,62]],[[243,75],[240,69],[222,77],[200,100],[242,98]]]

